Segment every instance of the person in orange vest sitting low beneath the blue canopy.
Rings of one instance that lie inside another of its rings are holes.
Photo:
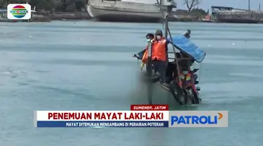
[[[182,72],[180,72],[180,75],[177,77],[176,81],[179,86],[182,86],[182,88],[188,88],[194,86],[194,79],[192,78],[193,77],[189,66],[184,65],[182,67]]]

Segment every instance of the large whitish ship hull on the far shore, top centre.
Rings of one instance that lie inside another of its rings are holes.
[[[148,9],[147,9],[148,7]],[[158,6],[133,4],[121,1],[89,1],[88,13],[97,21],[104,22],[162,22]]]

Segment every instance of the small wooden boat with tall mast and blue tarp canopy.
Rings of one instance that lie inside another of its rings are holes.
[[[167,91],[169,91],[173,98],[175,98],[175,101],[179,102],[180,105],[198,105],[200,104],[201,98],[198,97],[198,90],[196,90],[195,86],[188,87],[182,87],[179,86],[175,79],[180,74],[180,60],[191,60],[191,62],[198,62],[201,63],[203,59],[205,58],[205,52],[201,50],[201,48],[198,48],[195,44],[193,44],[187,37],[184,35],[177,35],[173,36],[170,34],[170,29],[168,27],[168,18],[171,14],[171,11],[173,8],[176,8],[176,4],[174,0],[170,1],[159,1],[157,0],[159,4],[159,8],[161,10],[161,6],[166,6],[167,11],[165,13],[161,12],[164,18],[165,22],[165,33],[164,36],[166,38],[166,41],[168,41],[169,44],[173,46],[173,52],[168,52],[167,56],[169,54],[173,54],[173,57],[168,57],[168,67],[166,67],[166,79],[165,81],[161,82],[159,81],[159,74],[156,73],[154,70],[154,66],[151,63],[151,51],[152,51],[152,44],[151,41],[149,41],[148,44],[148,56],[147,56],[147,69],[142,71],[142,77],[146,79],[146,81],[149,81],[148,84],[148,100],[149,104],[152,104],[151,95],[152,95],[152,84],[159,82],[161,87],[165,88]],[[170,37],[168,37],[168,34]],[[142,56],[144,55],[144,51],[141,51],[133,57],[137,58],[138,60],[142,60]],[[192,76],[194,77],[194,70],[191,71]],[[197,78],[197,77],[196,77]],[[178,78],[179,81],[181,80]],[[194,79],[195,84],[198,84],[198,81]]]

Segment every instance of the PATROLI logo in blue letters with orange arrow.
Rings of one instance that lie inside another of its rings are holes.
[[[174,114],[175,113],[175,114]],[[170,114],[170,127],[227,127],[228,112],[178,111]]]

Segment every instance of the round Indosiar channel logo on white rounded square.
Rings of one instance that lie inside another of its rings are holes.
[[[7,6],[7,18],[29,20],[31,18],[31,6],[29,4],[9,4]]]

